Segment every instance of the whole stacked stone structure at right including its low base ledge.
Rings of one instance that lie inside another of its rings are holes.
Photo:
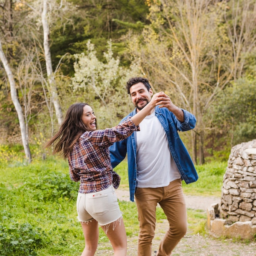
[[[256,139],[236,145],[229,155],[220,204],[207,208],[215,236],[256,237]]]

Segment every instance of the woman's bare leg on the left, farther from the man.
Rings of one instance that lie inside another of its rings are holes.
[[[92,220],[89,221],[88,224],[84,222],[80,223],[85,238],[85,248],[83,249],[83,253],[81,254],[81,256],[94,256],[99,241],[98,222],[96,220]]]

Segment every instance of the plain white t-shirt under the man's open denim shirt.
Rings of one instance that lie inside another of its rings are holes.
[[[179,179],[180,173],[171,155],[160,121],[153,114],[139,124],[137,137],[137,183],[139,188],[157,188]]]

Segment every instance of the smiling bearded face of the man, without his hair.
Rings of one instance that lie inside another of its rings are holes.
[[[148,102],[151,100],[153,92],[151,88],[148,89],[144,85],[144,83],[136,83],[130,88],[130,95],[132,97],[132,103],[135,105],[137,110],[141,110],[144,108]]]

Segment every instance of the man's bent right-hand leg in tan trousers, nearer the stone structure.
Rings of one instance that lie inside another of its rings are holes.
[[[160,243],[157,256],[169,256],[187,230],[186,202],[180,179],[164,187],[164,199],[159,204],[166,214],[169,229]]]

